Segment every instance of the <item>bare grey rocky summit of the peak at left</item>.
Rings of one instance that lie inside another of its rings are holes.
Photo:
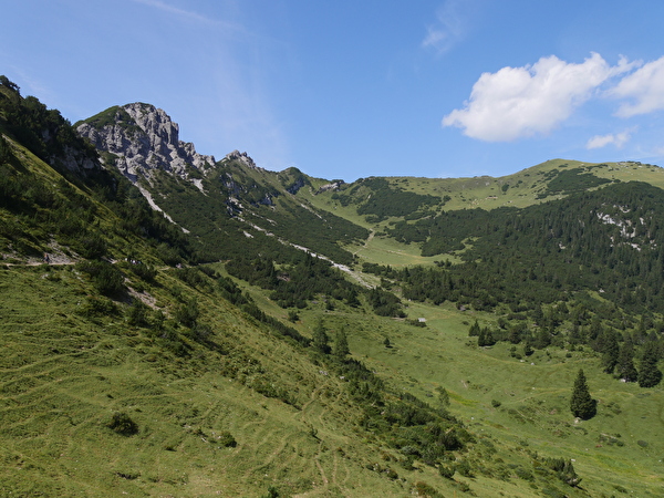
[[[149,179],[157,169],[189,179],[196,170],[205,175],[215,164],[215,157],[198,154],[194,144],[180,142],[177,123],[149,104],[111,107],[76,129],[97,149],[110,153],[106,162],[114,162],[132,183],[141,176]]]

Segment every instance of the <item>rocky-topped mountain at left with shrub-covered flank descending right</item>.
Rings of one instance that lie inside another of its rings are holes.
[[[177,124],[152,105],[111,107],[76,129],[95,144],[106,167],[197,238],[205,259],[247,255],[247,246],[253,253],[261,247],[272,252],[297,247],[350,264],[352,255],[343,246],[367,236],[364,228],[295,198],[312,181],[297,168],[267,172],[238,151],[219,162],[200,155],[193,144],[179,142]]]

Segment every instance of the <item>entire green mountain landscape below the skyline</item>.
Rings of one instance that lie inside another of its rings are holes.
[[[178,132],[0,76],[0,496],[663,496],[664,169],[346,183]]]

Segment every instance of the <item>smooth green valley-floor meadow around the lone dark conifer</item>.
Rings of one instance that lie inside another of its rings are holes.
[[[433,402],[436,387],[445,387],[452,412],[475,434],[491,437],[505,461],[522,465],[523,452],[573,458],[590,496],[612,496],[622,488],[635,496],[660,496],[664,486],[662,387],[642,390],[618,382],[601,373],[598,357],[589,352],[567,357],[564,351],[551,347],[549,354],[538,351],[521,362],[510,356],[507,344],[477,349],[467,336],[468,322],[494,318],[461,313],[449,305],[409,303],[412,318],[427,320],[424,329],[344,310],[312,310],[302,317],[313,323],[321,313],[332,328],[353,331],[351,350],[400,388]],[[383,345],[385,338],[392,347]],[[569,411],[580,367],[599,401],[598,416],[591,421],[574,421]],[[495,407],[494,401],[500,405]],[[470,480],[476,492],[486,486],[479,496],[498,496],[498,484],[483,484],[479,477]],[[540,489],[547,486],[538,484]]]

